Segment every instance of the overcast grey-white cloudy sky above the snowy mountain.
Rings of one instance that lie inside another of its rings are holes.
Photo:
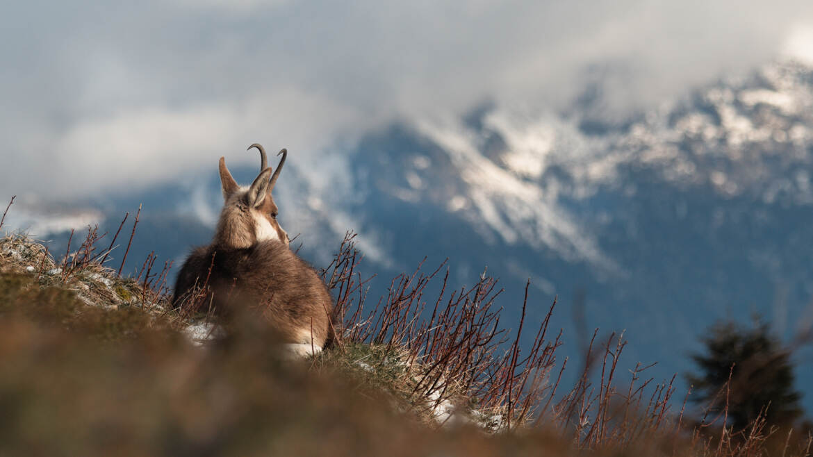
[[[563,107],[596,67],[617,109],[646,107],[813,52],[811,27],[809,1],[8,3],[0,199],[254,163],[254,141],[301,166],[393,119]]]

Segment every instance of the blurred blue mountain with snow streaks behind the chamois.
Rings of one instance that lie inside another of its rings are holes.
[[[813,68],[793,61],[623,117],[593,86],[564,112],[485,105],[392,124],[318,163],[292,151],[275,198],[314,263],[358,232],[379,275],[373,296],[424,256],[448,257],[455,285],[485,266],[500,277],[511,317],[530,277],[531,317],[558,295],[570,355],[594,327],[626,329],[628,366],[659,362],[650,374],[667,378],[690,368],[718,318],[760,312],[785,338],[813,320],[811,108]],[[234,172],[247,182],[256,170]],[[211,235],[215,164],[182,185],[85,204],[115,231],[139,202],[132,259],[180,259]],[[800,363],[813,411],[813,369]]]

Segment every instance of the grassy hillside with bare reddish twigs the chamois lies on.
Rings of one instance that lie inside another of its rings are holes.
[[[731,430],[724,416],[690,419],[685,393],[617,366],[616,335],[593,337],[585,367],[568,368],[548,319],[500,322],[499,289],[485,275],[452,291],[442,265],[418,268],[368,300],[350,236],[324,269],[341,337],[292,362],[253,316],[167,310],[170,266],[148,258],[123,278],[101,240],[89,230],[57,261],[28,237],[0,239],[0,455],[810,450],[809,436],[764,421]],[[426,296],[433,282],[441,292]],[[536,334],[532,347],[520,348],[523,332]],[[576,385],[560,385],[566,368],[583,372]],[[622,371],[631,383],[617,385]]]

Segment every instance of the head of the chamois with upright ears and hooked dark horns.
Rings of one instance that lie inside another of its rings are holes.
[[[247,188],[237,185],[226,168],[225,159],[220,158],[220,185],[223,189],[224,205],[215,230],[215,245],[246,248],[269,240],[279,240],[288,245],[288,233],[285,233],[276,221],[277,208],[271,196],[288,151],[280,150],[277,155],[282,155],[282,159],[276,171],[273,171],[267,166],[263,146],[254,143],[248,149],[253,147],[259,150],[260,172]]]

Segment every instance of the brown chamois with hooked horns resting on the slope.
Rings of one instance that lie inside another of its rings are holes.
[[[267,167],[263,146],[260,172],[241,187],[220,158],[224,206],[209,246],[193,250],[180,268],[173,307],[211,309],[220,316],[256,310],[294,355],[320,351],[333,340],[333,300],[311,266],[289,248],[288,234],[276,220],[271,196],[288,156],[276,171]]]

